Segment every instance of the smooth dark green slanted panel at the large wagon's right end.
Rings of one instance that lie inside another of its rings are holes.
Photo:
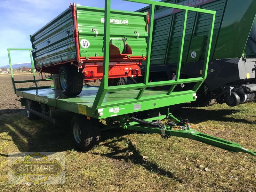
[[[255,14],[255,0],[227,1],[214,59],[242,57]]]

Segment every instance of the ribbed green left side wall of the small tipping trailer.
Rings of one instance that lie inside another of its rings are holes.
[[[35,67],[60,62],[61,59],[70,60],[76,56],[73,28],[68,8],[31,36]]]

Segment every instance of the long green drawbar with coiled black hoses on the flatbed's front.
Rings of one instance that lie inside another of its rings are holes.
[[[175,123],[173,121],[167,121],[165,122],[165,125],[162,123],[155,123],[151,121],[138,119],[135,117],[131,117],[130,120],[131,121],[129,122],[129,124],[126,124],[125,126],[126,129],[142,131],[142,132],[160,133],[163,139],[169,139],[170,136],[184,137],[184,138],[200,141],[202,143],[206,143],[214,147],[222,148],[225,150],[229,150],[233,152],[243,152],[243,153],[251,154],[252,156],[256,156],[256,151],[251,151],[249,149],[243,148],[238,143],[220,139],[218,137],[214,137],[208,134],[198,132],[194,129],[191,129],[191,126],[188,124],[188,119],[179,121],[178,119],[175,118],[175,120],[178,121],[178,123]],[[147,125],[147,127],[143,127],[138,124],[145,124]],[[148,127],[148,126],[151,126],[151,127]]]

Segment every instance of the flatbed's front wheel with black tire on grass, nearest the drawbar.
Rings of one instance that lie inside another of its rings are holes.
[[[97,120],[87,120],[84,116],[74,116],[71,121],[73,139],[81,151],[89,151],[100,144],[100,128]]]

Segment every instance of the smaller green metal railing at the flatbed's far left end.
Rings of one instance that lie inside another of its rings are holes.
[[[10,51],[29,51],[30,54],[30,61],[31,61],[31,67],[32,67],[32,73],[33,73],[33,80],[23,80],[23,81],[14,81],[14,77],[13,77],[13,70],[12,70],[12,60],[11,60],[11,53]],[[11,77],[12,77],[12,86],[14,89],[14,92],[16,93],[17,90],[27,90],[27,89],[38,89],[38,88],[47,88],[47,87],[51,87],[51,86],[37,86],[36,82],[42,81],[42,79],[36,79],[35,76],[35,71],[34,71],[34,62],[33,62],[33,58],[32,58],[32,49],[7,49],[8,52],[8,57],[9,57],[9,64],[10,64],[10,70],[11,70]],[[50,81],[52,79],[44,79],[44,81]],[[16,88],[15,84],[16,83],[30,83],[33,82],[35,84],[35,87],[26,87],[26,88]]]

